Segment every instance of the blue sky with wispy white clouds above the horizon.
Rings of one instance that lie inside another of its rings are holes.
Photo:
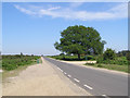
[[[3,2],[2,53],[58,54],[54,42],[74,25],[95,28],[105,49],[128,49],[125,2]]]

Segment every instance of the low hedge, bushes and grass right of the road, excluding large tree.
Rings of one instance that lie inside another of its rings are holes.
[[[125,52],[125,54],[120,54],[120,52]],[[64,61],[96,61],[96,63],[86,63],[84,65],[116,70],[128,73],[128,65],[130,62],[128,60],[129,56],[126,52],[128,51],[119,51],[118,53],[116,53],[114,50],[107,49],[103,54],[81,56],[80,60],[77,56],[68,56],[63,53],[58,56],[49,56],[49,58]]]

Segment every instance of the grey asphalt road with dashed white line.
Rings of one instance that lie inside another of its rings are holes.
[[[128,96],[128,76],[44,58],[70,81],[94,96]]]

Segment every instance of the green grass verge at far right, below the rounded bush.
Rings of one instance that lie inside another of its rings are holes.
[[[129,72],[128,65],[129,61],[126,57],[116,57],[115,60],[103,60],[102,57],[96,57],[98,63],[91,64],[86,63],[86,65],[91,65],[94,68],[104,68],[108,70],[121,71],[121,72]]]

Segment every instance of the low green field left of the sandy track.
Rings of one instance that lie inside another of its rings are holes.
[[[18,66],[30,65],[39,62],[40,57],[37,56],[2,56],[2,70],[11,71]]]

